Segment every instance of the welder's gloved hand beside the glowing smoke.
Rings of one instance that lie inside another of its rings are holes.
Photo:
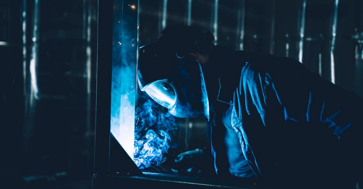
[[[195,149],[180,153],[174,159],[172,172],[183,176],[201,176],[204,166],[204,152],[202,149]]]

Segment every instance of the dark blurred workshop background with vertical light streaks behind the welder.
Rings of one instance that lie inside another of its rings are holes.
[[[136,2],[138,46],[193,25],[215,44],[297,59],[363,95],[361,0]],[[13,188],[91,188],[97,3],[0,1],[0,179]],[[193,126],[189,136],[203,134]]]

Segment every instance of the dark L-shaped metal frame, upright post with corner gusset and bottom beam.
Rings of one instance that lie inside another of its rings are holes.
[[[123,4],[127,0],[120,0]],[[128,2],[128,1],[127,1]],[[126,3],[127,4],[127,3]],[[119,188],[256,188],[253,183],[223,178],[142,173],[110,131],[113,64],[113,0],[98,0],[97,90],[93,189]],[[116,168],[114,168],[116,167]]]

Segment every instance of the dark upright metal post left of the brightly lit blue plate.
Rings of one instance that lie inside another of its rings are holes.
[[[94,174],[102,175],[107,175],[110,170],[110,103],[113,28],[112,13],[112,0],[98,1]]]

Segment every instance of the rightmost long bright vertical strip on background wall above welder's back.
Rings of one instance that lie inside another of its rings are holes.
[[[335,0],[333,25],[331,28],[332,37],[331,37],[331,47],[330,47],[330,76],[331,76],[332,83],[335,83],[334,47],[335,47],[335,36],[337,35],[338,4],[339,4],[339,0]]]

